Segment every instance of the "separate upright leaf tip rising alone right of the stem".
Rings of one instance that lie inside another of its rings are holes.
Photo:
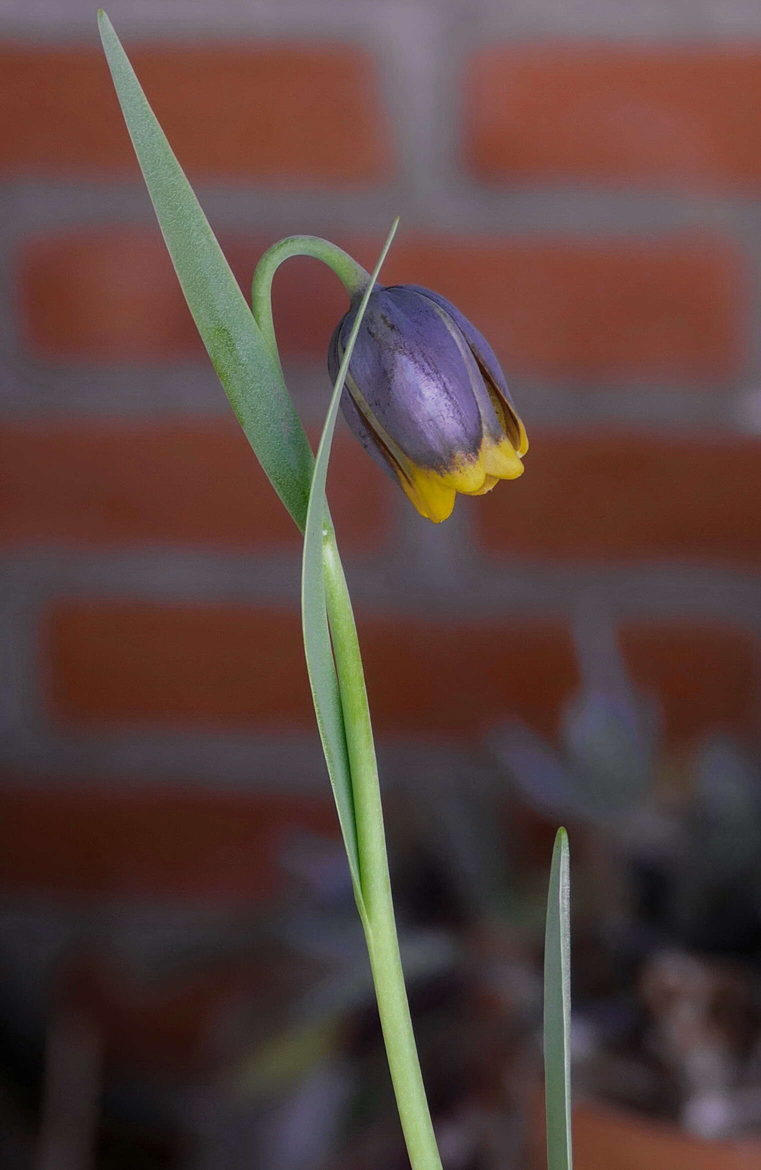
[[[570,876],[568,834],[557,831],[544,934],[544,1099],[548,1170],[571,1170]]]

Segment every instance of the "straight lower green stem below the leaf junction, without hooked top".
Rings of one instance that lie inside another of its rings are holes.
[[[325,525],[323,539],[323,567],[328,618],[351,764],[364,901],[363,927],[389,1068],[413,1170],[441,1170],[399,956],[383,830],[380,785],[359,641],[335,534],[329,524]]]

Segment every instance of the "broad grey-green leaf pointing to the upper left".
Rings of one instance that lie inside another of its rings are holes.
[[[280,367],[103,12],[98,12],[98,27],[124,121],[187,307],[246,438],[303,530],[311,448]]]

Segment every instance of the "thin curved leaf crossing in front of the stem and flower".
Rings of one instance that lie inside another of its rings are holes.
[[[354,797],[351,792],[351,769],[347,751],[347,737],[343,724],[343,711],[341,707],[341,695],[338,691],[338,679],[330,645],[330,629],[328,626],[328,613],[325,608],[325,584],[322,566],[322,542],[323,525],[327,516],[325,482],[328,477],[328,462],[330,459],[330,446],[338,414],[341,391],[351,360],[354,344],[362,324],[362,318],[372,291],[380,266],[391,247],[391,241],[397,229],[399,220],[395,220],[386,242],[383,246],[380,256],[370,277],[366,291],[359,304],[359,311],[355,318],[347,349],[338,370],[338,376],[322,428],[315,470],[311,479],[311,490],[309,493],[309,507],[307,510],[307,526],[304,531],[304,546],[301,574],[301,619],[303,626],[304,652],[307,655],[307,669],[311,686],[311,696],[317,716],[317,727],[322,748],[328,763],[330,783],[338,810],[338,820],[349,859],[351,880],[354,882],[357,902],[362,904],[362,886],[359,880],[359,849],[357,845],[357,827],[354,815]]]

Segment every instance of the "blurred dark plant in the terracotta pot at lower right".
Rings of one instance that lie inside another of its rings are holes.
[[[761,775],[717,729],[681,753],[628,674],[610,607],[575,621],[581,686],[560,745],[491,737],[519,800],[585,837],[576,1051],[603,1095],[702,1135],[761,1123]]]

